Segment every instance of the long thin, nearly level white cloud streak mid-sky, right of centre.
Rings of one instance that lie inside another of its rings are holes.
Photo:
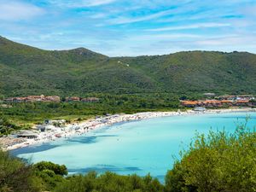
[[[167,26],[155,29],[148,29],[148,32],[164,32],[164,31],[174,31],[183,29],[198,29],[198,28],[214,28],[214,27],[224,27],[231,26],[230,23],[197,23],[187,26]]]

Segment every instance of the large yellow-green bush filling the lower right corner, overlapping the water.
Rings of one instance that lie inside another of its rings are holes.
[[[256,132],[239,126],[195,137],[167,172],[166,191],[256,191]]]

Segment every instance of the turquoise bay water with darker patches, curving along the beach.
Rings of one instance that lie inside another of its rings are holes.
[[[186,148],[195,131],[234,132],[237,123],[256,125],[256,113],[197,114],[162,117],[103,127],[84,136],[60,139],[52,143],[12,151],[32,162],[49,160],[65,164],[69,172],[112,171],[145,175],[160,180],[172,168],[178,152]]]

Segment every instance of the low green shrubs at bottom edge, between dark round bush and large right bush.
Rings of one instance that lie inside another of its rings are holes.
[[[62,191],[160,192],[164,191],[164,187],[149,175],[146,177],[119,176],[106,172],[97,176],[95,172],[90,172],[84,176],[67,177],[65,183],[60,183],[55,189],[55,192]]]

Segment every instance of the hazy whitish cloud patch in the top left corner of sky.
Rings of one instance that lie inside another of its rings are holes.
[[[29,3],[18,1],[2,1],[0,3],[0,20],[27,20],[43,14],[44,9]]]

